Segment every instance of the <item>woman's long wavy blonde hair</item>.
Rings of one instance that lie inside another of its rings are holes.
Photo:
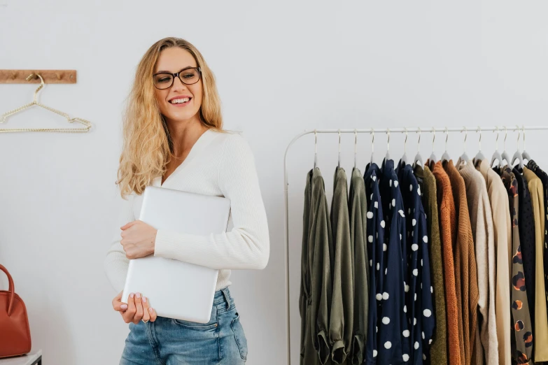
[[[202,70],[200,122],[209,129],[223,131],[215,76],[199,50],[181,38],[169,37],[154,43],[137,66],[123,116],[124,142],[116,184],[124,199],[132,192],[142,194],[155,177],[163,176],[173,153],[173,141],[157,105],[153,85],[153,73],[160,52],[171,47],[180,47],[190,52]]]

